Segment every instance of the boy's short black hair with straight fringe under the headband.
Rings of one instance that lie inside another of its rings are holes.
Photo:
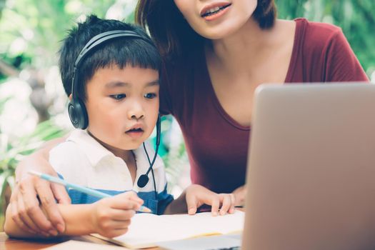
[[[71,94],[71,81],[74,73],[74,61],[86,43],[106,31],[129,30],[140,36],[149,37],[144,29],[139,26],[125,24],[117,20],[99,19],[97,16],[87,16],[86,21],[79,23],[69,31],[59,51],[59,69],[61,80],[66,94]],[[82,101],[86,101],[86,83],[96,70],[110,66],[119,66],[123,69],[126,65],[139,66],[144,69],[159,71],[161,57],[155,46],[143,39],[121,37],[106,41],[86,56],[81,66],[76,71],[78,77],[77,95]]]

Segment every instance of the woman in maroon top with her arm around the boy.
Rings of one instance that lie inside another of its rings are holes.
[[[276,19],[274,0],[141,0],[136,19],[164,56],[161,112],[179,121],[192,182],[233,192],[236,204],[244,201],[256,86],[369,80],[341,29]],[[26,175],[29,169],[54,174],[48,150],[19,165],[13,218],[42,231],[62,231],[64,221],[53,201],[69,202],[66,192]]]

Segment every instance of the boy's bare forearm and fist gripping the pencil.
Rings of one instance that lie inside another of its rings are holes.
[[[141,204],[143,201],[134,192],[101,199],[93,204],[57,204],[66,225],[65,231],[59,236],[98,233],[106,237],[114,237],[125,234],[131,217],[134,216]],[[6,209],[4,224],[4,231],[9,236],[23,238],[57,236],[57,232],[49,235],[41,234],[41,232],[33,234],[21,229],[14,222],[11,209],[11,206]]]

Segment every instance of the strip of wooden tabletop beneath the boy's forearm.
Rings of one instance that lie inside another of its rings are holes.
[[[10,239],[4,232],[0,233],[0,249],[1,250],[35,250],[35,249],[44,249],[49,246],[54,246],[56,244],[59,244],[64,241],[69,241],[69,240],[75,240],[75,241],[87,241],[91,243],[96,243],[96,244],[105,244],[105,245],[112,245],[108,241],[104,241],[101,239],[98,239],[94,236],[74,236],[74,237],[64,237],[60,239],[43,239],[43,240],[30,240],[28,239],[23,240],[23,239]],[[124,248],[126,249],[126,248]],[[147,250],[156,250],[158,248],[150,248]],[[72,249],[70,249],[72,250]],[[86,249],[81,249],[81,250],[86,250]]]

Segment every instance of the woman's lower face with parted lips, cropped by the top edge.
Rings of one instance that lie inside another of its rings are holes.
[[[186,21],[206,39],[224,39],[251,18],[257,0],[174,0]]]

